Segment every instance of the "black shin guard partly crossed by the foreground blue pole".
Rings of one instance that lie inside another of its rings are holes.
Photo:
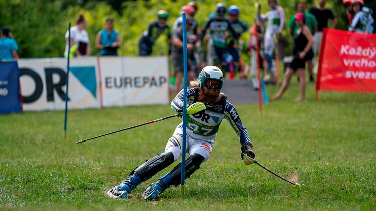
[[[195,172],[197,169],[200,168],[201,163],[204,161],[204,157],[199,154],[192,154],[188,157],[185,161],[185,179],[190,178],[190,176]],[[181,183],[181,163],[175,166],[174,169],[171,171],[170,177],[171,185],[175,185],[177,187]]]

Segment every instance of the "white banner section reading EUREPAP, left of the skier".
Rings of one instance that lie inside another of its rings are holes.
[[[103,106],[169,104],[168,60],[101,57]]]

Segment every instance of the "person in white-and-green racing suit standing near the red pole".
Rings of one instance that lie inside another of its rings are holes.
[[[268,62],[268,75],[264,77],[267,82],[275,82],[275,66],[273,65],[274,52],[274,35],[279,39],[281,37],[283,26],[286,22],[286,15],[283,8],[277,5],[277,0],[268,0],[270,10],[267,14],[260,14],[260,7],[258,7],[257,17],[260,22],[268,21],[264,35],[264,54]]]

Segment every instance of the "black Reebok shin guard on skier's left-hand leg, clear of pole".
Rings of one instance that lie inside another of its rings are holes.
[[[150,179],[152,176],[157,174],[162,169],[171,165],[174,162],[174,156],[171,152],[164,152],[158,154],[146,161],[144,164],[136,168],[133,173],[136,173],[142,181]]]

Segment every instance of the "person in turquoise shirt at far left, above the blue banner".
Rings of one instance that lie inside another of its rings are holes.
[[[0,37],[0,60],[18,59],[18,45],[13,39],[11,31],[7,27],[3,27]]]

